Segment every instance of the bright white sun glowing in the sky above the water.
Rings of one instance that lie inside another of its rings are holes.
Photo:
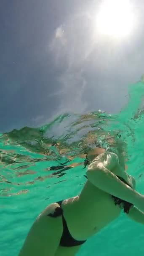
[[[99,33],[115,38],[131,34],[134,24],[132,5],[129,0],[103,0],[96,16]]]

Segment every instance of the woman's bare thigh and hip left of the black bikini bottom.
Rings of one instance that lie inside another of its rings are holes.
[[[49,205],[40,213],[32,225],[19,256],[55,256],[63,232],[62,218],[48,216],[59,207],[57,203]]]

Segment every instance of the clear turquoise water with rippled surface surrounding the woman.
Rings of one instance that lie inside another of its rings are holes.
[[[77,195],[85,183],[80,154],[93,138],[120,136],[128,173],[144,194],[144,84],[129,87],[128,104],[117,115],[60,115],[40,128],[0,134],[0,255],[15,256],[33,221],[49,203]],[[87,139],[88,138],[88,139]],[[51,146],[56,141],[57,146]],[[67,162],[69,159],[69,162]],[[67,165],[81,163],[66,169]],[[50,170],[57,166],[57,170]],[[61,167],[60,167],[61,165]],[[78,256],[144,255],[144,226],[121,214],[91,237]]]

